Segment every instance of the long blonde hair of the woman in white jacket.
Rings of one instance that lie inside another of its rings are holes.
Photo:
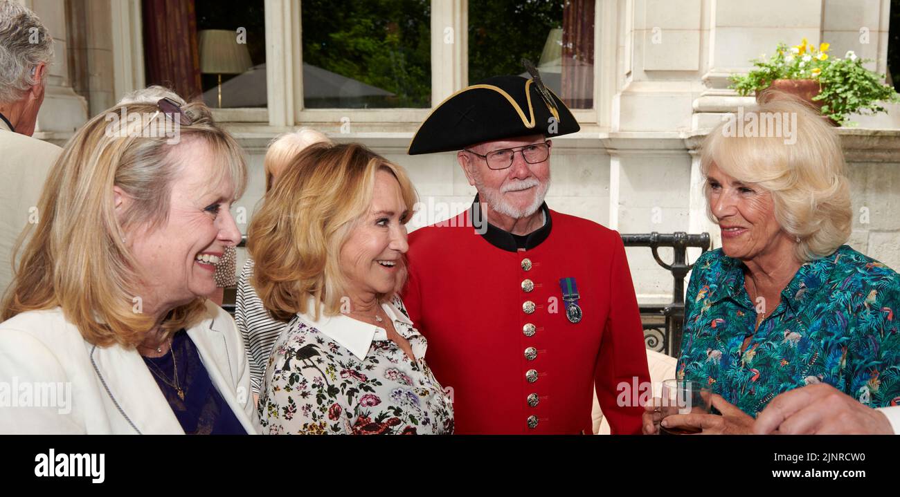
[[[247,168],[238,143],[212,120],[202,103],[183,108],[193,118],[182,125],[182,141],[200,140],[211,155],[211,177],[233,182],[235,198],[244,190]],[[139,265],[124,244],[131,226],[166,222],[172,182],[190,160],[178,160],[177,145],[166,136],[142,136],[148,126],[165,123],[156,103],[117,105],[69,140],[49,172],[40,195],[40,223],[24,247],[14,280],[4,297],[0,321],[25,311],[61,306],[85,341],[106,347],[135,347],[155,325],[154,316],[133,311],[140,295]],[[122,114],[122,112],[125,112]],[[118,120],[125,115],[152,120]],[[171,124],[171,121],[169,121]],[[116,216],[113,187],[134,201]],[[14,249],[28,238],[23,231]],[[163,339],[205,315],[202,297],[172,309],[162,324]]]

